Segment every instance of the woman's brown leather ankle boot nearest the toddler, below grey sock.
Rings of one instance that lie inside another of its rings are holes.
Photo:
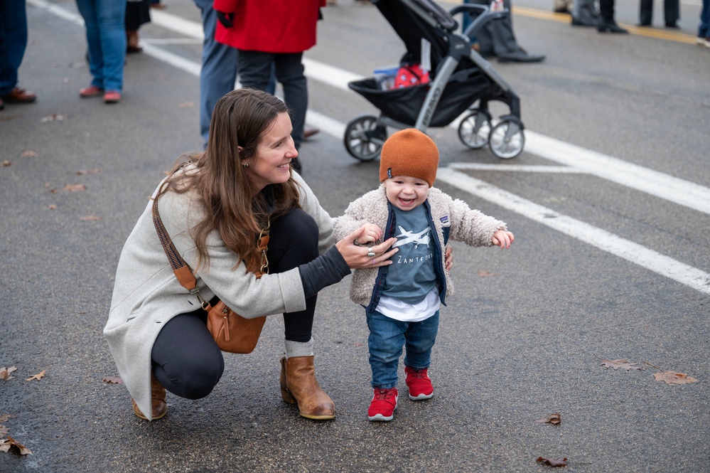
[[[298,404],[302,417],[315,420],[335,418],[335,404],[318,386],[313,356],[281,358],[281,398]]]

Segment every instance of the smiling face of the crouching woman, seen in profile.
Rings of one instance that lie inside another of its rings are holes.
[[[279,113],[264,131],[257,154],[244,159],[249,164],[247,176],[259,190],[269,184],[284,183],[291,177],[291,159],[298,156],[291,130],[289,114]]]

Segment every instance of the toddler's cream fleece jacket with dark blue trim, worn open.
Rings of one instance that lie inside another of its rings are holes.
[[[493,233],[497,230],[507,230],[507,228],[505,222],[486,216],[480,211],[471,210],[466,202],[454,200],[436,187],[429,188],[429,196],[426,201],[431,210],[430,226],[434,230],[434,235],[439,240],[439,248],[441,248],[441,255],[434,258],[435,264],[436,262],[439,264],[439,267],[435,267],[434,271],[437,275],[443,275],[446,280],[446,294],[440,294],[441,302],[444,303],[446,296],[453,294],[451,277],[444,268],[446,259],[444,245],[448,240],[461,241],[474,247],[493,246],[491,241]],[[387,228],[387,220],[390,215],[392,222]],[[350,203],[350,206],[345,209],[345,215],[335,218],[335,239],[340,240],[350,235],[354,230],[360,228],[360,225],[367,222],[374,223],[382,229],[383,240],[390,238],[394,229],[397,228],[391,204],[387,201],[384,185]],[[355,270],[350,282],[350,299],[365,307],[372,302],[379,301],[375,280],[385,268],[387,267]],[[441,284],[439,284],[439,289],[441,289]]]

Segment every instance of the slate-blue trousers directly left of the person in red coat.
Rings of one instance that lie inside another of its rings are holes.
[[[205,31],[200,70],[200,135],[207,147],[215,104],[235,89],[238,53],[236,48],[215,41],[217,13],[213,9],[213,0],[194,1],[202,13],[202,28]]]

